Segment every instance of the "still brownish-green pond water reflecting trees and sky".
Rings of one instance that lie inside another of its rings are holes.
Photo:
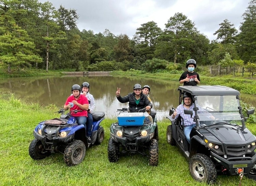
[[[90,83],[90,93],[93,94],[96,110],[104,111],[106,117],[117,116],[117,109],[128,107],[128,103],[120,103],[115,96],[117,87],[121,88],[121,96],[132,92],[136,83],[149,85],[153,107],[157,111],[157,119],[168,116],[169,109],[179,104],[180,86],[178,81],[141,78],[134,76],[51,76],[23,77],[0,80],[0,92],[11,92],[27,102],[38,102],[43,106],[55,104],[63,107],[71,94],[73,84],[81,85],[84,81]],[[255,96],[242,94],[241,99],[256,106]]]

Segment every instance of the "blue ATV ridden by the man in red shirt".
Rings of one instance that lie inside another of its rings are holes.
[[[64,161],[68,166],[77,165],[84,159],[86,147],[100,144],[104,139],[104,128],[100,122],[104,120],[104,112],[93,112],[92,143],[87,143],[84,125],[78,125],[72,112],[65,114],[64,109],[57,113],[60,118],[40,122],[33,134],[35,139],[30,143],[29,155],[34,160],[43,159],[51,152],[60,152],[64,155]]]

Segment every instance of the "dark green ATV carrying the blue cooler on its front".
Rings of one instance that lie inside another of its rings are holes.
[[[149,157],[149,164],[158,165],[158,128],[156,117],[148,120],[145,109],[130,113],[128,108],[118,109],[118,122],[110,126],[108,160],[116,162],[121,154],[140,153]]]

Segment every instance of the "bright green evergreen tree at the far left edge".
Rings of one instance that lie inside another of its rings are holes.
[[[11,72],[11,66],[31,66],[42,62],[42,58],[35,55],[35,44],[27,32],[16,24],[16,10],[14,1],[0,3],[0,61]],[[14,17],[13,17],[14,16]]]

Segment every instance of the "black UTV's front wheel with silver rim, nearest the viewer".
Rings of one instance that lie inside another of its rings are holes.
[[[189,161],[189,170],[192,177],[199,182],[214,183],[217,178],[213,161],[204,154],[195,154]]]

